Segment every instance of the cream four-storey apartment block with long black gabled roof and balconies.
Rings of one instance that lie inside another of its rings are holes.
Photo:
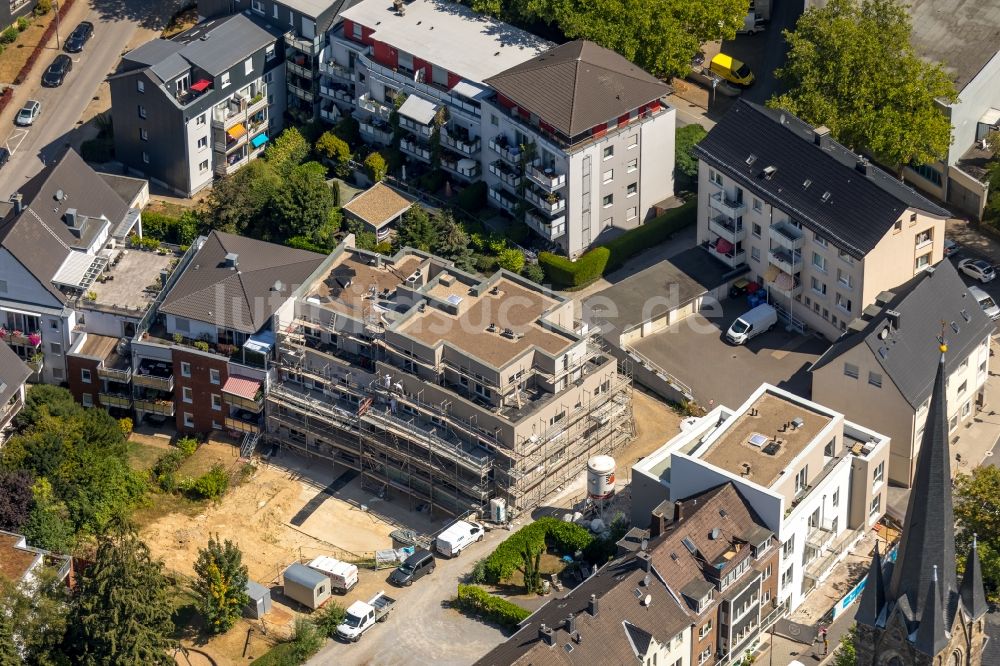
[[[740,101],[695,148],[698,243],[833,340],[944,256],[948,211],[788,112]]]

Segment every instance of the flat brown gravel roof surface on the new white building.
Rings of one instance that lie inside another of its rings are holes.
[[[769,487],[832,420],[805,402],[764,391],[726,422],[700,458]]]

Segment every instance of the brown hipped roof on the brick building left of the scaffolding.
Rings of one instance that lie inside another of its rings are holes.
[[[238,255],[235,269],[225,265],[231,253]],[[324,259],[315,252],[213,231],[160,312],[256,333]]]

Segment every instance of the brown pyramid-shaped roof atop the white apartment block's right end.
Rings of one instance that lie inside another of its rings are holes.
[[[582,40],[549,49],[485,83],[570,137],[669,91],[614,51]]]

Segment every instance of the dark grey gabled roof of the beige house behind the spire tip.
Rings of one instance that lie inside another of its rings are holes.
[[[933,272],[921,272],[892,293],[893,298],[862,330],[848,329],[810,369],[822,368],[855,346],[866,344],[885,374],[916,409],[930,396],[937,357],[937,349],[931,343],[941,335],[941,322],[948,324],[945,336],[950,350],[949,374],[986,339],[994,326],[948,260],[939,262]],[[879,336],[888,325],[888,310],[900,313],[900,327],[890,328],[883,340]],[[952,322],[957,332],[951,327]]]

